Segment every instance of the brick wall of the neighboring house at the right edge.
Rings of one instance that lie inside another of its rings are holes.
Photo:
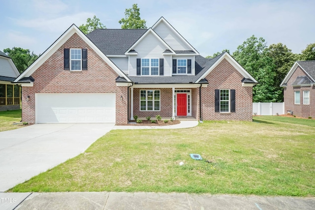
[[[284,109],[293,111],[293,115],[302,118],[315,118],[315,87],[314,86],[298,86],[293,87],[291,84],[298,76],[306,76],[305,72],[298,66],[292,76],[287,81],[284,88]],[[310,91],[310,104],[303,104],[303,91]],[[294,91],[300,91],[300,104],[294,104]]]

